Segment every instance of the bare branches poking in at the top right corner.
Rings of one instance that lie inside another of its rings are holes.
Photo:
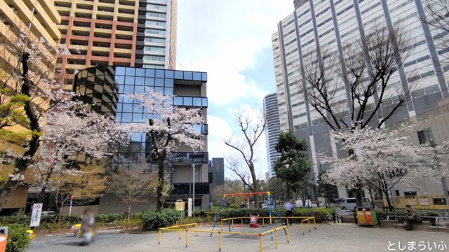
[[[444,52],[448,52],[449,48],[449,1],[427,0],[424,5],[427,16],[422,19],[422,22],[434,28],[435,36],[431,39],[434,39],[436,48],[441,50],[441,55],[447,64],[449,55]]]

